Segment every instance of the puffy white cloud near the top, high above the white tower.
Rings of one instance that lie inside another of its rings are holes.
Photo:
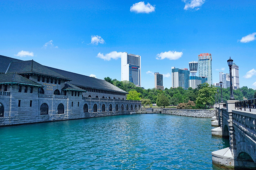
[[[147,5],[144,3],[144,1],[135,3],[130,8],[131,12],[135,13],[150,13],[155,11],[155,7],[150,5],[150,3],[147,3]]]

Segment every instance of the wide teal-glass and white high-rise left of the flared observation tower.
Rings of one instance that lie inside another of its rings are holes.
[[[179,69],[172,67],[172,87],[182,87],[183,89],[188,89],[189,70],[187,68]]]

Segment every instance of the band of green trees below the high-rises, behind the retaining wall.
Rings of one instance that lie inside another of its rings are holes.
[[[184,90],[182,87],[171,87],[169,89],[157,90],[155,88],[143,89],[136,87],[129,81],[112,80],[110,77],[105,77],[104,80],[128,92],[127,100],[141,100],[142,105],[156,103],[157,106],[163,107],[178,105],[178,108],[206,109],[207,106],[212,106],[215,103],[217,89],[219,89],[219,102],[221,102],[220,87],[215,87],[207,83],[200,84],[195,89],[189,87],[187,90]],[[223,102],[229,100],[230,88],[222,88],[222,96]],[[234,90],[234,97],[235,100],[256,98],[256,90],[244,86]]]

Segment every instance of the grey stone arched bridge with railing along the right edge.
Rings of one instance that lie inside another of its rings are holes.
[[[256,169],[256,99],[215,105],[212,135],[229,138],[230,147],[212,152],[213,165],[223,169]]]

